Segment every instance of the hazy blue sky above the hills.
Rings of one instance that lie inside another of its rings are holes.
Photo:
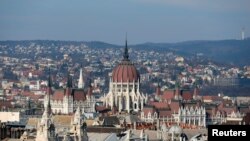
[[[124,44],[250,36],[250,0],[0,0],[0,40]]]

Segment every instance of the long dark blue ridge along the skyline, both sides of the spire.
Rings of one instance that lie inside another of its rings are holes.
[[[38,44],[72,44],[80,45],[86,44],[91,48],[119,48],[121,45],[105,43],[101,41],[60,41],[60,40],[21,40],[21,41],[0,41],[1,45],[11,44],[16,45],[22,42],[23,44],[30,44],[35,42]],[[184,41],[178,43],[142,43],[136,45],[129,45],[131,48],[143,50],[160,50],[160,51],[174,51],[175,53],[185,54],[189,57],[195,54],[203,54],[214,61],[232,64],[237,66],[250,65],[250,38],[245,40],[196,40]]]

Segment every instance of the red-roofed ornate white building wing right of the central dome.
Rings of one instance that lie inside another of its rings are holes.
[[[193,91],[180,90],[178,86],[161,94],[159,85],[155,101],[141,111],[141,119],[154,122],[158,119],[167,123],[178,123],[185,128],[206,127],[206,110],[196,87]],[[157,101],[158,100],[158,101]]]

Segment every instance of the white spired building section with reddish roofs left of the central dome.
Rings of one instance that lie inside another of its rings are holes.
[[[81,73],[80,73],[81,75]],[[46,103],[51,101],[51,109],[53,113],[70,114],[76,111],[77,107],[85,113],[95,112],[95,97],[92,95],[92,86],[89,86],[87,92],[84,89],[72,88],[71,78],[68,77],[67,88],[56,90],[52,94],[51,79],[48,81],[47,94],[44,97],[44,107]]]

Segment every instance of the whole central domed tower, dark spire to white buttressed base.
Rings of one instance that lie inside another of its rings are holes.
[[[140,92],[140,74],[129,60],[126,40],[123,60],[112,72],[104,103],[111,109],[116,107],[119,112],[130,112],[143,109],[146,101],[147,96]]]

